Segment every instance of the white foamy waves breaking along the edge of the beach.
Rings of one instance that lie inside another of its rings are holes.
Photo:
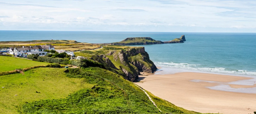
[[[222,67],[206,68],[201,66],[200,64],[173,63],[173,62],[155,62],[154,64],[156,64],[156,66],[162,66],[167,68],[168,67],[181,68],[181,69],[201,71],[201,72],[256,76],[256,72],[251,72],[247,70],[236,70],[236,69],[229,69],[229,68],[222,68]]]

